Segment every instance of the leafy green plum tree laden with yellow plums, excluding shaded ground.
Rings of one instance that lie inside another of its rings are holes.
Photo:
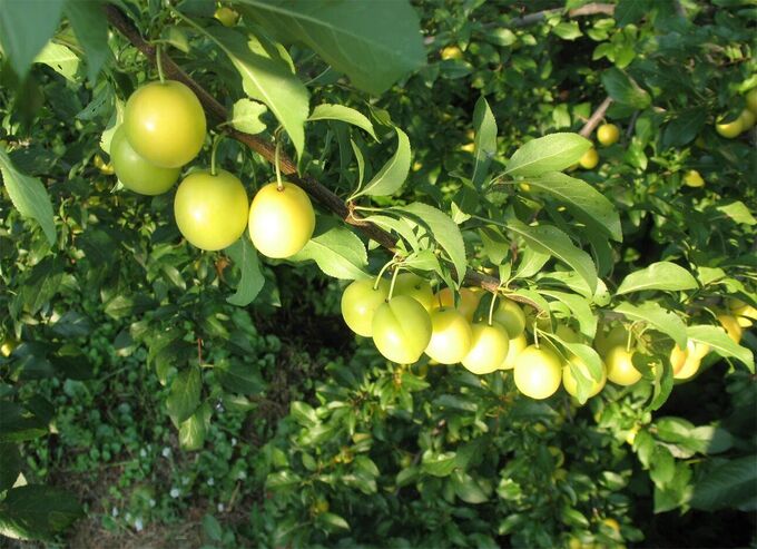
[[[82,513],[23,480],[38,380],[144,350],[207,450],[284,367],[247,340],[287,292],[357,337],[249,461],[255,543],[603,547],[641,506],[754,511],[755,8],[537,3],[1,3],[0,533]],[[323,295],[287,282],[316,268]],[[730,415],[672,415],[704,379]]]

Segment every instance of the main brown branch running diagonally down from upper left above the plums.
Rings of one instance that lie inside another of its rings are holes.
[[[153,65],[155,65],[155,47],[142,38],[139,30],[126,17],[126,14],[120,9],[111,4],[105,6],[104,9],[108,20],[110,21],[110,24],[112,24],[121,35],[124,35],[124,37],[126,37],[134,47],[141,51]],[[217,122],[225,122],[227,120],[228,111],[226,108],[220,102],[218,102],[218,100],[213,97],[205,88],[197,84],[197,81],[190,78],[178,65],[176,65],[167,55],[165,55],[165,52],[161,53],[160,61],[165,76],[188,86],[197,95],[197,98],[203,104],[203,107],[210,118],[215,119]],[[229,126],[217,127],[216,129],[224,131],[229,137],[244,145],[247,145],[250,149],[259,154],[269,163],[274,163],[276,149],[272,143],[266,141],[257,136],[236,130]],[[302,187],[308,195],[315,198],[332,214],[341,217],[348,225],[358,228],[365,236],[377,242],[381,246],[385,247],[390,252],[394,252],[396,249],[396,238],[394,238],[391,233],[366,222],[365,219],[362,219],[353,209],[347,206],[347,204],[344,203],[344,200],[342,200],[338,196],[336,196],[327,187],[323,186],[314,178],[307,176],[301,177],[297,174],[297,166],[285,154],[279,154],[279,166],[282,168],[282,173],[287,176],[288,180]],[[472,269],[468,269],[465,272],[465,278],[463,283],[468,286],[480,286],[490,292],[497,292],[500,287],[500,281],[498,278],[478,273]],[[509,295],[509,297],[513,301],[531,305],[538,310],[541,308],[527,297],[521,297],[519,295]]]

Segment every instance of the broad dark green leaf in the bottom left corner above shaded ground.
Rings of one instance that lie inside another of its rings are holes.
[[[36,484],[13,488],[0,502],[0,535],[49,539],[81,517],[81,506],[66,490]]]

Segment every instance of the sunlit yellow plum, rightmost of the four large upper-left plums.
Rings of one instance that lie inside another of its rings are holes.
[[[293,183],[276,182],[257,192],[249,206],[249,237],[266,257],[285,258],[313,236],[315,212],[307,194]]]

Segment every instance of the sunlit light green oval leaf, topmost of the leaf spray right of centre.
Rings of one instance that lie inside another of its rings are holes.
[[[535,177],[572,166],[591,148],[591,141],[578,134],[551,134],[532,139],[515,150],[505,174]]]

